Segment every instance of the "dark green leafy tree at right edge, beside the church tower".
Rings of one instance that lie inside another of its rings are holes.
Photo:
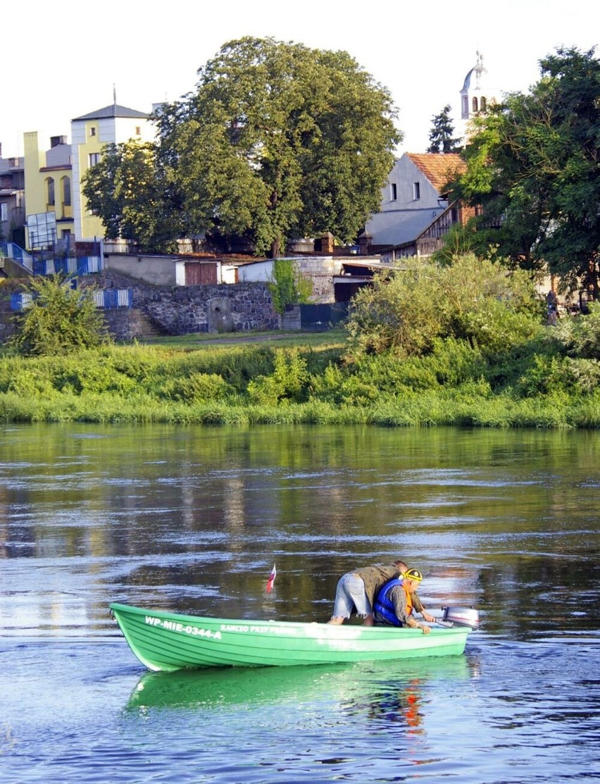
[[[558,49],[540,71],[530,93],[475,121],[453,193],[481,208],[475,245],[546,265],[565,289],[583,283],[598,299],[600,62],[594,49]]]

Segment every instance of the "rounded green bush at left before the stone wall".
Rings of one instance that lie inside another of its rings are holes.
[[[31,304],[17,317],[13,347],[26,356],[56,356],[107,343],[104,317],[93,289],[71,289],[63,276],[31,278],[26,292]]]

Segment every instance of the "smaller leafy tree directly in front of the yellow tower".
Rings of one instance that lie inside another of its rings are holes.
[[[136,241],[140,249],[169,251],[185,230],[172,172],[152,143],[107,145],[88,169],[82,193],[102,220],[107,238]]]

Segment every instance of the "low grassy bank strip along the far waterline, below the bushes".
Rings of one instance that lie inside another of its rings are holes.
[[[352,357],[339,330],[249,338],[187,336],[52,358],[5,354],[0,420],[600,426],[598,362],[561,354],[543,329],[504,353],[445,339],[427,356],[404,360]]]

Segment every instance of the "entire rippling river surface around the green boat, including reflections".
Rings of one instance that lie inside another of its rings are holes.
[[[0,426],[0,780],[600,781],[599,450]],[[107,609],[325,620],[340,575],[397,557],[427,608],[478,608],[464,655],[148,673]]]

